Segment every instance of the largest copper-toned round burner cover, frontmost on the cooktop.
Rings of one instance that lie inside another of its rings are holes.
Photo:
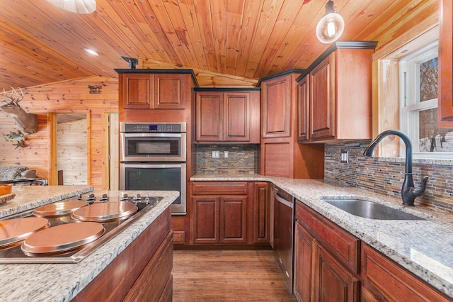
[[[101,223],[67,223],[30,235],[21,245],[25,255],[67,252],[105,233]]]

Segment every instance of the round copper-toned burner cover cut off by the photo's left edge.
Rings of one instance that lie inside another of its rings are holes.
[[[0,247],[24,240],[39,230],[49,228],[49,220],[39,217],[25,217],[0,221]]]

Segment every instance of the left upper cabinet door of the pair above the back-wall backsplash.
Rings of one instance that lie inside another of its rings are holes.
[[[197,92],[196,136],[200,142],[222,140],[223,94],[218,92]]]

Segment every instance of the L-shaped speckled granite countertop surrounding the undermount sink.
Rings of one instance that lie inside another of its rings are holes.
[[[259,174],[195,174],[190,180],[270,181],[453,298],[451,214],[423,206],[403,206],[401,198],[340,186],[321,179],[287,179]],[[324,202],[323,198],[362,198],[426,220],[361,218]]]

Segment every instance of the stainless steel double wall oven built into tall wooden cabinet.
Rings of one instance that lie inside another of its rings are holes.
[[[186,213],[186,123],[120,123],[120,189],[179,191],[173,215]]]

